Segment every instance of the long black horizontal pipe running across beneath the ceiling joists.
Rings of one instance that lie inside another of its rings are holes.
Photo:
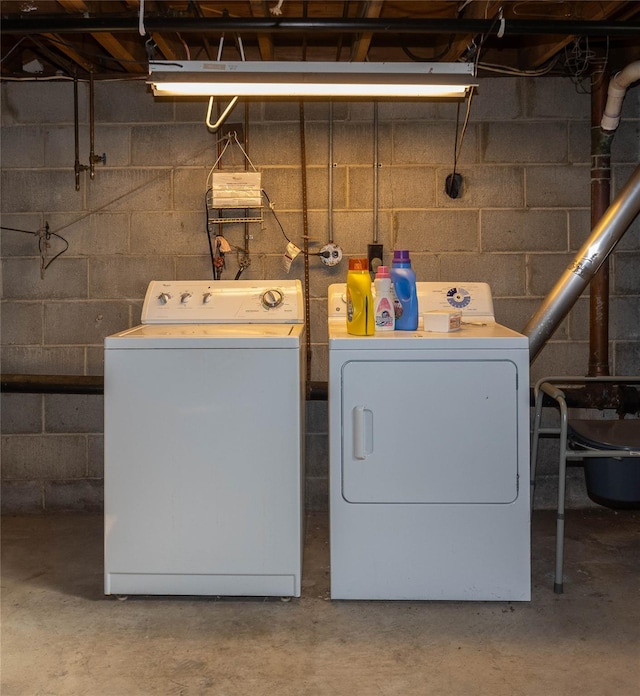
[[[145,17],[146,30],[151,32],[220,33],[257,32],[287,34],[301,31],[325,33],[371,32],[374,34],[487,34],[496,30],[493,19],[369,19],[346,17],[278,18],[269,17]],[[138,17],[5,17],[1,34],[77,34],[137,32]],[[640,22],[584,20],[506,20],[505,36],[638,36]]]

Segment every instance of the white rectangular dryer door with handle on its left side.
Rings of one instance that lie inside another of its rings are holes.
[[[517,367],[506,359],[342,366],[342,494],[351,503],[511,503]]]

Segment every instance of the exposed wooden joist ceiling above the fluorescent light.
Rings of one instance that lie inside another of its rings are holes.
[[[511,74],[551,65],[552,74],[571,74],[565,46],[576,37],[606,55],[609,69],[640,59],[633,0],[145,0],[142,18],[139,0],[2,0],[0,8],[2,75],[12,77],[28,76],[28,51],[44,75],[137,77],[150,57],[217,60],[225,39],[223,60],[479,56],[480,75],[490,64]]]

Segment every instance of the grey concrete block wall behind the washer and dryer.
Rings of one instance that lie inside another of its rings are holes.
[[[2,225],[38,232],[48,223],[69,249],[41,274],[39,237],[2,231],[2,371],[99,375],[105,336],[139,322],[152,279],[210,278],[205,236],[207,175],[217,136],[202,102],[155,101],[144,82],[98,82],[95,178],[74,186],[73,86],[2,84]],[[80,160],[87,163],[88,90],[80,85]],[[249,155],[287,235],[302,246],[297,103],[249,109]],[[329,106],[305,105],[309,235],[328,241]],[[241,123],[237,107],[231,123]],[[472,102],[458,159],[462,195],[444,180],[453,166],[456,105],[379,105],[379,241],[385,257],[409,248],[419,280],[487,281],[498,321],[521,329],[590,231],[590,98],[562,78],[496,78]],[[333,241],[345,256],[373,239],[373,105],[333,107]],[[640,160],[640,89],[629,91],[613,143],[617,191]],[[230,148],[223,168],[243,166]],[[224,233],[243,246],[244,227]],[[286,240],[268,209],[250,226],[243,278],[285,276]],[[55,236],[47,260],[64,247]],[[616,374],[640,372],[640,221],[611,262],[610,354]],[[327,379],[326,294],[346,278],[312,257],[311,378]],[[238,269],[227,255],[223,277]],[[290,277],[303,277],[298,258]],[[581,298],[545,347],[532,380],[584,374],[588,299]],[[553,452],[540,467],[539,506],[552,504]],[[6,512],[99,509],[102,397],[2,395],[2,505]],[[307,404],[307,502],[327,505],[327,404]],[[546,462],[546,463],[545,463]],[[580,472],[571,502],[586,504]],[[548,490],[549,493],[544,493]]]

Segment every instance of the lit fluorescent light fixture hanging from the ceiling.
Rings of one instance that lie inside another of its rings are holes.
[[[462,98],[477,82],[471,63],[150,61],[156,97]]]

